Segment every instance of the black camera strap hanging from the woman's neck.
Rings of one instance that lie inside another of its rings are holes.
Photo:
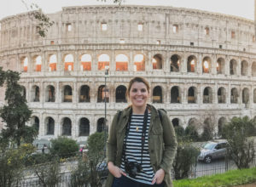
[[[125,159],[126,158],[126,147],[127,147],[127,137],[128,137],[128,133],[131,127],[131,116],[132,116],[132,108],[131,108],[131,112],[129,114],[129,119],[128,119],[128,124],[126,126],[126,132],[125,132],[125,148],[123,149],[124,152],[124,156]],[[145,144],[145,137],[146,137],[146,131],[147,131],[147,123],[148,123],[148,108],[146,108],[145,112],[144,112],[144,117],[143,117],[143,132],[142,132],[142,155],[141,155],[141,164],[143,163],[143,150],[144,150],[144,144]]]

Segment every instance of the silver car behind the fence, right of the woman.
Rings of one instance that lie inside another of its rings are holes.
[[[204,144],[201,148],[200,156],[198,156],[199,161],[205,161],[206,163],[211,163],[213,159],[224,158],[227,153],[227,141],[209,141]]]

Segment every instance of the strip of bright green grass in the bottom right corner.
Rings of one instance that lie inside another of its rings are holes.
[[[195,179],[174,180],[174,187],[228,187],[256,182],[256,167]]]

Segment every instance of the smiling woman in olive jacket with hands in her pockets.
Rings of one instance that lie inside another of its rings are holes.
[[[172,122],[147,104],[149,85],[143,77],[131,79],[126,96],[131,106],[118,112],[110,127],[106,186],[171,187],[177,147]]]

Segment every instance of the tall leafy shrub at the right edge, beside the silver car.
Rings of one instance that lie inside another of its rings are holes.
[[[224,137],[228,141],[228,156],[235,161],[239,169],[248,168],[255,156],[253,135],[255,124],[253,120],[245,117],[234,117],[224,126]]]

